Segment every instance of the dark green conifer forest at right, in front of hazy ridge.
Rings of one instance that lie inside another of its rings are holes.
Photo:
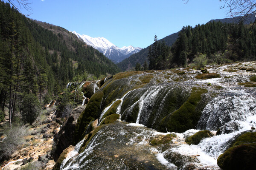
[[[192,62],[197,54],[206,54],[214,62],[218,54],[226,61],[251,61],[256,59],[256,27],[221,22],[183,27],[172,45],[169,68]]]

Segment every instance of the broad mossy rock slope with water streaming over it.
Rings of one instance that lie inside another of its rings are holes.
[[[246,65],[255,68],[256,62],[211,65],[205,75],[181,68],[104,79],[76,124],[79,155],[64,161],[61,169],[219,170],[217,159],[229,141],[256,127],[256,72],[239,69]],[[91,131],[96,119],[98,127]],[[186,144],[185,139],[200,130],[210,135]],[[177,137],[161,142],[171,132]],[[250,153],[253,147],[241,149]]]

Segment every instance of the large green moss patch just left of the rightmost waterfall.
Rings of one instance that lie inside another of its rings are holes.
[[[200,105],[205,105],[201,101],[201,95],[206,93],[206,89],[192,88],[192,93],[186,102],[180,108],[169,116],[165,116],[159,125],[159,130],[165,132],[166,128],[170,132],[184,132],[189,129],[194,129],[201,116],[201,110],[204,107],[198,108]]]

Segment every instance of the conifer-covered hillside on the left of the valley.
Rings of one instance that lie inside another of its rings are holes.
[[[90,79],[96,79],[119,71],[102,53],[64,28],[30,20],[3,2],[0,17],[1,120],[7,111],[11,118],[29,113],[29,105],[36,116],[36,108],[58,95],[77,75],[90,74]]]

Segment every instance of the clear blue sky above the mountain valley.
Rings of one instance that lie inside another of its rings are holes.
[[[219,0],[28,0],[32,19],[90,37],[105,37],[118,47],[145,48],[183,26],[228,17]],[[28,14],[27,11],[22,11]]]

